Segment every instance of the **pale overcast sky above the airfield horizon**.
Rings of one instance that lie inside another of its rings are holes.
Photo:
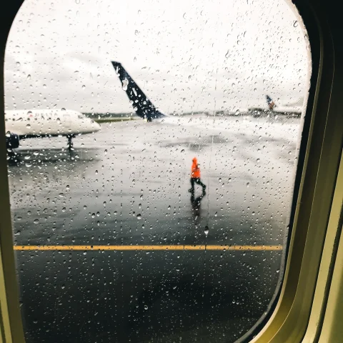
[[[5,56],[6,109],[126,112],[111,60],[165,113],[304,97],[309,47],[284,0],[26,0]]]

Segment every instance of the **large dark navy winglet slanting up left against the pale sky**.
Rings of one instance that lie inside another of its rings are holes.
[[[112,61],[116,74],[119,76],[121,86],[126,91],[129,100],[136,111],[137,116],[151,121],[152,119],[164,116],[151,101],[146,97],[144,92],[139,88],[136,82],[131,78],[129,73],[124,69],[121,63]]]

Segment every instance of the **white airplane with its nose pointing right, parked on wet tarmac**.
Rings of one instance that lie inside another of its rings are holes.
[[[33,109],[6,111],[5,129],[9,150],[18,148],[22,139],[51,136],[66,136],[71,149],[74,136],[99,131],[100,125],[78,111]]]

